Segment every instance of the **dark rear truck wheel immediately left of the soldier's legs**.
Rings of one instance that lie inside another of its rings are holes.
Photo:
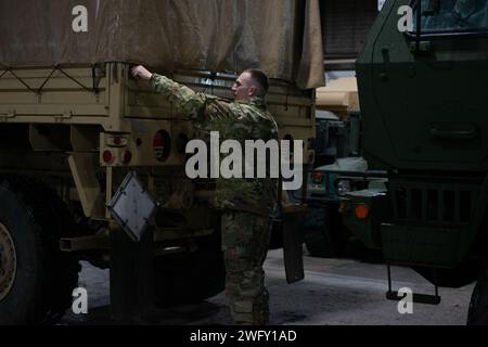
[[[155,259],[156,304],[196,304],[223,291],[226,268],[220,231],[196,242],[195,252]]]

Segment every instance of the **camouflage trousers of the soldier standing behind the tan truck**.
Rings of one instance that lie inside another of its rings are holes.
[[[221,217],[226,262],[226,296],[237,324],[267,324],[268,292],[265,262],[271,236],[271,219],[235,211]]]

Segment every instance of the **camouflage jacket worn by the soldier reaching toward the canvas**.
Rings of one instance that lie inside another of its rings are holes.
[[[244,156],[245,140],[278,140],[278,126],[260,98],[232,102],[215,95],[196,93],[165,76],[153,74],[153,89],[166,97],[179,113],[190,117],[195,127],[208,133],[218,131],[220,143],[236,140]],[[208,151],[209,153],[209,151]],[[224,157],[226,155],[222,155]],[[243,158],[243,168],[245,166]],[[256,165],[256,163],[255,163]],[[244,177],[244,175],[243,175]],[[220,209],[243,210],[272,215],[277,204],[278,179],[222,178],[217,179],[215,206]]]

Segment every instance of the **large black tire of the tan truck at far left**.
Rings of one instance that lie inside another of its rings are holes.
[[[40,181],[0,177],[0,325],[51,324],[72,305],[80,266],[59,248],[70,223]]]

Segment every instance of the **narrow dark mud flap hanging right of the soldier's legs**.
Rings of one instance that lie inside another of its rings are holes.
[[[294,283],[305,278],[304,273],[304,233],[305,207],[283,208],[283,253],[286,282]]]

